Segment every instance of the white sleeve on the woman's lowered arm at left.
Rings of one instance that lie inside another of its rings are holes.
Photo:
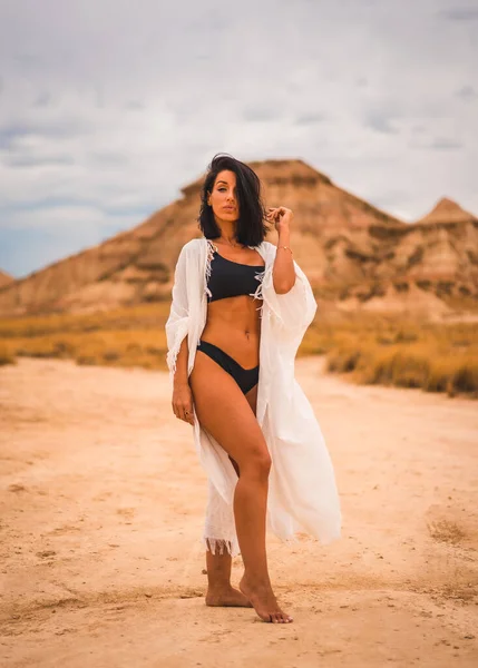
[[[166,363],[169,369],[169,379],[173,381],[176,372],[176,358],[183,338],[189,327],[189,305],[187,298],[187,259],[186,248],[183,246],[177,258],[172,289],[169,316],[166,321],[167,355]]]

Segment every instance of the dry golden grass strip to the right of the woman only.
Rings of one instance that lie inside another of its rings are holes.
[[[318,336],[319,341],[321,336]],[[476,324],[355,318],[322,335],[328,371],[365,384],[478,397]]]

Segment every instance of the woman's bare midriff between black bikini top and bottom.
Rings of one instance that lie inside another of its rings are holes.
[[[253,369],[258,364],[261,304],[248,295],[211,302],[202,341],[217,345],[244,369]]]

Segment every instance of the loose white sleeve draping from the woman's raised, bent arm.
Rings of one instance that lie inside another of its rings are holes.
[[[262,279],[262,297],[280,327],[292,334],[304,332],[312,323],[318,308],[309,278],[295,261],[295,283],[286,293],[274,289],[273,266],[276,248],[271,244],[271,256]]]

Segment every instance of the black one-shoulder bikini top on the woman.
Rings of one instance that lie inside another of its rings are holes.
[[[245,265],[233,262],[214,250],[211,261],[211,276],[207,287],[212,296],[208,302],[224,299],[225,297],[237,297],[238,295],[251,295],[257,289],[256,274],[264,271],[262,265]]]

